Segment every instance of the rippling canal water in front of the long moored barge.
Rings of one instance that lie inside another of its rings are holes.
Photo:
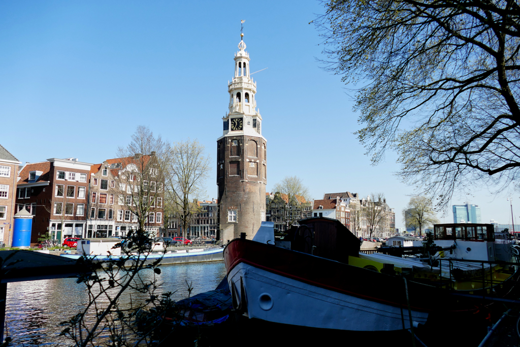
[[[160,292],[175,292],[175,301],[184,299],[188,296],[186,281],[193,288],[191,295],[195,295],[215,289],[225,273],[223,261],[162,265]],[[59,324],[79,313],[87,299],[85,286],[76,284],[73,278],[10,283],[5,336],[10,336],[14,345],[71,344],[58,336],[63,329]]]

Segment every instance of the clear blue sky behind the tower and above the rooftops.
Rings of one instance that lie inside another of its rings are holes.
[[[378,166],[363,154],[353,135],[353,94],[317,61],[326,57],[309,22],[323,7],[315,0],[295,4],[0,2],[0,144],[22,162],[99,163],[146,125],[171,142],[189,137],[205,146],[215,163],[207,197],[216,198],[216,139],[244,19],[251,71],[268,68],[253,76],[268,141],[267,190],[295,175],[314,199],[383,192],[402,228],[413,188],[394,175],[394,153]],[[471,201],[483,222],[505,224],[508,196],[478,188],[450,204]],[[439,218],[450,223],[451,209]]]

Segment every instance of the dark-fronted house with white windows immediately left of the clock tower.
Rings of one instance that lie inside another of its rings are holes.
[[[218,230],[218,202],[216,199],[198,201],[200,212],[193,215],[188,235],[216,237]]]

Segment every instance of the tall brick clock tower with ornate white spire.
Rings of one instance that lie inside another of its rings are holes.
[[[250,59],[243,38],[238,48],[235,75],[228,82],[229,111],[222,119],[223,135],[217,139],[220,238],[224,242],[240,237],[241,233],[252,239],[265,221],[267,142],[262,136],[256,82],[250,76]]]

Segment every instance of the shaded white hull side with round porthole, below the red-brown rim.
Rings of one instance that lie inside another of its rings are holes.
[[[244,314],[249,318],[350,331],[410,328],[407,309],[320,288],[249,264],[237,264],[227,277],[235,301],[245,305]],[[246,298],[242,298],[244,293]],[[414,326],[426,323],[427,317],[426,312],[412,310]]]

